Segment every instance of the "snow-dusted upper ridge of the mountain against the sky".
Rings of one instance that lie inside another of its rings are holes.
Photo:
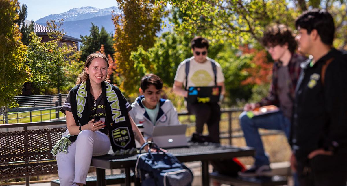
[[[121,11],[117,7],[110,7],[110,8],[104,8],[104,9],[95,8],[95,7],[80,7],[80,8],[70,9],[69,11],[61,13],[61,14],[51,14],[49,16],[46,16],[37,20],[35,23],[46,24],[46,21],[50,19],[52,20],[64,19],[64,22],[90,19],[93,17],[112,15],[112,11],[115,11],[116,14],[121,13]]]

